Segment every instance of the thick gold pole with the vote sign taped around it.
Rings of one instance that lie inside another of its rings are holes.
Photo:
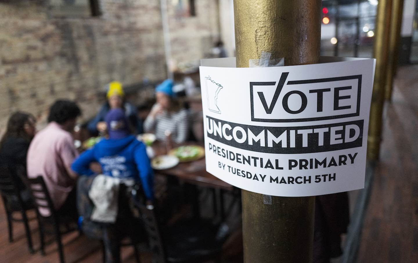
[[[321,0],[234,0],[234,19],[237,67],[263,51],[286,66],[318,63]],[[311,262],[314,205],[314,197],[242,190],[244,261]]]

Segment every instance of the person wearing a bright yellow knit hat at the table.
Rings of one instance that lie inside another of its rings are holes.
[[[91,134],[98,134],[106,132],[106,121],[104,118],[111,109],[123,109],[125,115],[129,120],[130,127],[136,132],[136,134],[143,133],[142,121],[138,119],[135,107],[129,102],[125,101],[125,93],[122,89],[122,83],[113,81],[108,84],[107,101],[100,108],[97,115],[89,121],[87,129]]]

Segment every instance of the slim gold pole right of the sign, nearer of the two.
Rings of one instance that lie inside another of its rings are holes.
[[[370,105],[369,136],[367,137],[367,159],[370,161],[379,159],[380,141],[382,140],[382,112],[388,63],[391,10],[392,0],[379,0],[373,50],[373,56],[376,58],[375,81],[373,83],[372,104]]]

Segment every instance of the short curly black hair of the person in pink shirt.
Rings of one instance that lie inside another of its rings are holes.
[[[49,109],[48,122],[55,121],[58,124],[75,119],[81,115],[81,110],[77,104],[69,100],[58,100]]]

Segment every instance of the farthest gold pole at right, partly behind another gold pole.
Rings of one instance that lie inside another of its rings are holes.
[[[393,78],[396,75],[399,56],[400,26],[402,25],[403,0],[392,0],[392,18],[390,19],[389,61],[387,63],[387,78],[385,99],[392,97]]]

